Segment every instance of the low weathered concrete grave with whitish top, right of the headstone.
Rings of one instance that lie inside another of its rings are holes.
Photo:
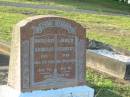
[[[130,57],[106,50],[87,50],[87,67],[119,79],[130,79]]]

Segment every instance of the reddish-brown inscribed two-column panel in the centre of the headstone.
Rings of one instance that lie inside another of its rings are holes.
[[[75,37],[34,37],[34,82],[75,78]]]

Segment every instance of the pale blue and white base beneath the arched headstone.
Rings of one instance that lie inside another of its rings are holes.
[[[20,93],[9,86],[2,85],[0,86],[0,97],[94,97],[94,89],[88,86],[77,86]]]

